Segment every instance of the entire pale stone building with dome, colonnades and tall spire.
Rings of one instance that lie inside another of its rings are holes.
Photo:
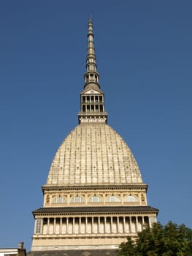
[[[43,207],[33,212],[31,256],[117,255],[128,236],[156,222],[134,155],[107,124],[91,19],[84,78],[79,124],[58,148],[42,187]]]

